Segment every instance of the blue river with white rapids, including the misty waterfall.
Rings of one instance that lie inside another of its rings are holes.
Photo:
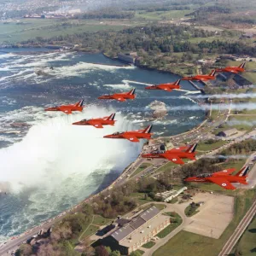
[[[187,131],[204,119],[203,109],[186,108],[191,100],[184,91],[144,90],[143,83],[172,82],[176,75],[114,67],[123,63],[101,54],[33,50],[0,53],[0,189],[8,191],[0,194],[0,241],[72,207],[119,176],[137,158],[143,142],[102,137],[148,125],[145,119],[152,113],[148,105],[155,99],[168,109],[165,119],[152,122],[155,137]],[[182,87],[195,90],[186,81]],[[96,99],[132,88],[137,89],[135,101]],[[84,99],[83,113],[44,112],[45,106],[80,99]],[[172,110],[177,106],[184,108]],[[71,125],[114,112],[115,126]]]

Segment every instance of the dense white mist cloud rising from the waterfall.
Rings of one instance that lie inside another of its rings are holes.
[[[91,107],[73,115],[52,113],[56,117],[39,121],[20,143],[0,149],[0,183],[9,183],[15,193],[32,187],[54,191],[69,177],[79,183],[79,176],[86,177],[96,169],[109,171],[129,164],[140,144],[102,138],[131,126],[121,115],[117,115],[115,126],[104,129],[72,125],[80,119],[109,113],[113,110]]]

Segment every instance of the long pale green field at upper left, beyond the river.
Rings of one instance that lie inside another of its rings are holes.
[[[20,22],[0,23],[0,43],[17,43],[28,39],[52,38],[66,34],[121,30],[125,26],[136,26],[129,21],[100,22],[98,20],[21,19]]]

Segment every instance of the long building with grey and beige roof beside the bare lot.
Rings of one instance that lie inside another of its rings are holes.
[[[122,255],[128,255],[150,241],[170,223],[170,216],[161,214],[156,207],[150,207],[131,218],[129,222],[124,221],[120,224],[119,221],[118,227],[100,243],[111,247],[112,250],[118,250]]]

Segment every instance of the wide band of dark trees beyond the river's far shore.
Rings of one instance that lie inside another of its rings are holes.
[[[236,32],[209,32],[193,26],[152,25],[126,28],[119,32],[84,32],[73,35],[61,35],[55,38],[34,38],[24,45],[42,44],[79,44],[80,50],[87,52],[102,51],[115,57],[118,53],[137,52],[137,64],[159,70],[179,73],[177,64],[188,66],[185,73],[195,73],[196,60],[206,55],[236,54],[256,56],[253,44],[229,40]],[[212,38],[208,40],[208,38]],[[177,55],[181,53],[181,55]],[[192,66],[191,66],[192,63]]]

